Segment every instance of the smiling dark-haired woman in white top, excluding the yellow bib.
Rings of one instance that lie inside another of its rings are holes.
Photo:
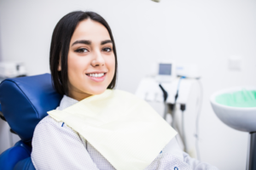
[[[56,91],[63,94],[62,111],[91,95],[113,89],[117,77],[117,54],[106,20],[93,12],[76,11],[55,26],[50,46],[50,71]],[[46,116],[35,129],[32,162],[36,169],[115,169],[84,137]],[[146,168],[217,169],[196,161],[179,149],[172,139],[160,156]]]

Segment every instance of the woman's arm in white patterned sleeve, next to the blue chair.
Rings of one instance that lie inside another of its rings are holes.
[[[32,163],[36,169],[98,170],[79,135],[49,116],[38,123],[32,139]]]

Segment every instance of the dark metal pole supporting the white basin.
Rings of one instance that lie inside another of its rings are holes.
[[[250,133],[249,170],[256,170],[256,132]]]

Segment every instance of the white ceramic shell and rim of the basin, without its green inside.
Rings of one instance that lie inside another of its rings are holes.
[[[256,107],[233,107],[218,104],[215,99],[220,94],[234,93],[242,89],[256,90],[256,88],[229,88],[220,90],[211,96],[212,109],[218,118],[229,127],[243,132],[256,132]]]

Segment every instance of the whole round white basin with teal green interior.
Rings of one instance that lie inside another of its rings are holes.
[[[212,109],[229,127],[256,132],[256,88],[230,88],[211,96]]]

